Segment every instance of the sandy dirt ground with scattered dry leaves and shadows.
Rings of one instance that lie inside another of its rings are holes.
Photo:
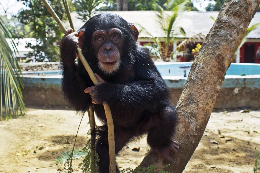
[[[214,110],[184,172],[254,172],[255,147],[260,150],[260,110],[240,110]],[[0,172],[67,172],[63,162],[55,159],[73,147],[80,119],[69,108],[30,107],[25,118],[0,121]],[[76,149],[87,142],[87,115],[82,122]],[[135,168],[148,150],[145,138],[130,143],[117,157],[120,168]],[[81,172],[77,165],[82,160],[73,160],[75,172]]]

